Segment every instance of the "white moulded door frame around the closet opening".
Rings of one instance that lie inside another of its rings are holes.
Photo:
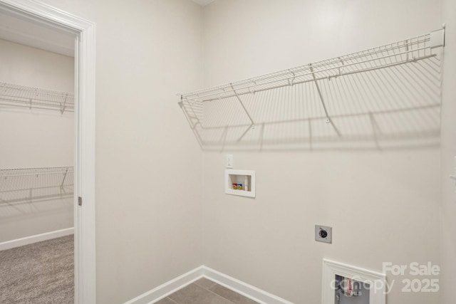
[[[76,36],[75,303],[95,304],[95,23],[34,0],[0,0],[0,10]]]

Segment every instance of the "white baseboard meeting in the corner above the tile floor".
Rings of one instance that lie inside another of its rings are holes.
[[[260,304],[293,304],[287,300],[279,298],[276,295],[267,293],[264,290],[239,281],[236,278],[227,276],[226,274],[219,271],[215,271],[214,269],[207,266],[199,266],[192,271],[184,273],[182,276],[178,276],[177,278],[174,278],[167,283],[164,283],[150,291],[147,291],[147,293],[138,295],[138,297],[133,298],[124,304],[155,303],[162,298],[166,298],[167,295],[170,295],[175,291],[180,290],[180,288],[183,288],[203,277],[208,278],[209,280],[214,281],[215,283],[218,283],[219,285],[222,285],[226,288],[229,288],[241,295],[244,295],[247,298],[257,301]]]

